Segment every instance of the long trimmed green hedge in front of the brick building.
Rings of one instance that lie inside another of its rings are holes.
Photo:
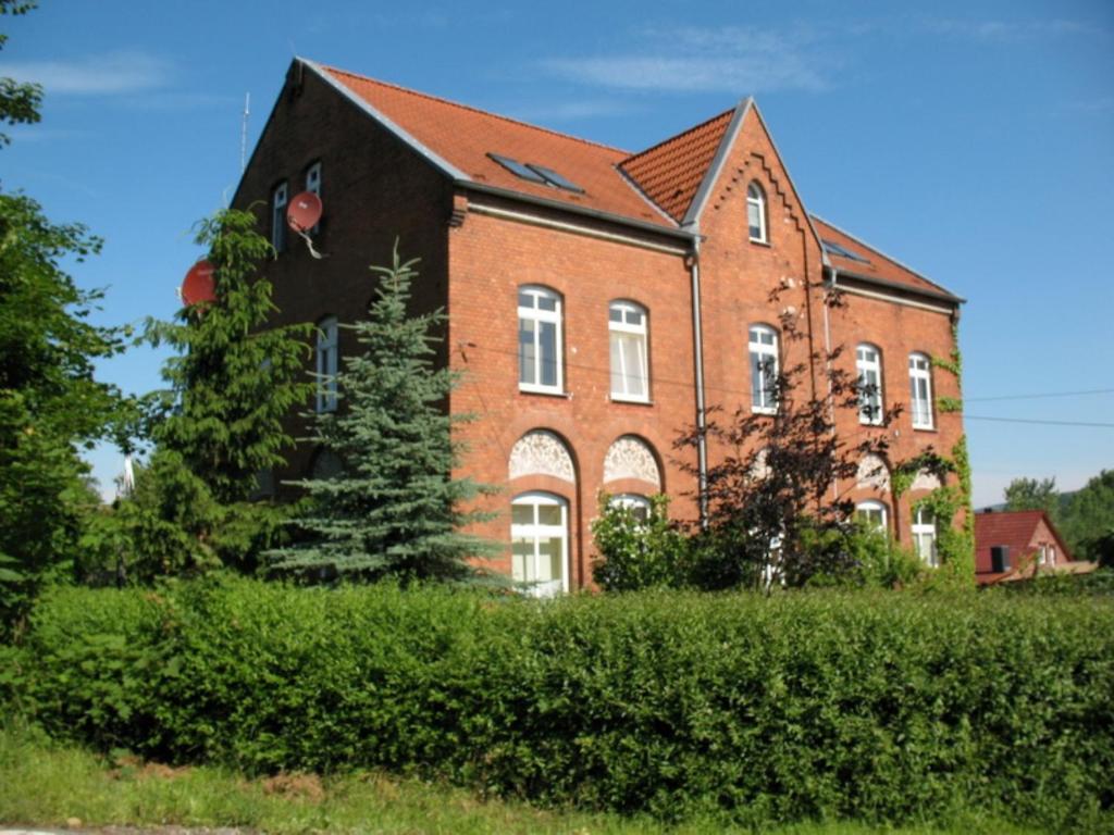
[[[11,698],[56,736],[247,772],[387,767],[740,823],[1111,826],[1104,599],[550,602],[243,580],[60,590]]]

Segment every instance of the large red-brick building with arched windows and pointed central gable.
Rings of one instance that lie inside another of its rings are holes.
[[[285,227],[304,190],[324,204],[325,258]],[[636,504],[664,491],[695,517],[678,458],[698,469],[719,452],[674,440],[712,405],[771,409],[765,358],[846,346],[847,370],[905,411],[888,425],[841,414],[839,431],[886,433],[895,461],[962,433],[936,407],[958,382],[930,362],[951,353],[961,299],[809,215],[752,99],[631,154],[296,59],[235,203],[258,208],[280,250],[281,318],[321,325],[325,373],[354,347],[335,323],[367,310],[368,266],[395,238],[421,258],[417,304],[448,311],[440,358],[465,372],[450,407],[479,418],[460,429],[461,470],[505,487],[478,532],[514,543],[497,567],[519,579],[590,582],[602,490]],[[821,303],[824,283],[844,305]],[[807,340],[782,338],[786,316]],[[334,407],[328,389],[316,405]],[[918,477],[896,498],[879,463],[834,491],[932,561],[910,502],[937,484]],[[302,446],[277,475],[328,466]]]

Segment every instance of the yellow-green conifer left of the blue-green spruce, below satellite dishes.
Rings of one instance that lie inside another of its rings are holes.
[[[196,242],[214,267],[216,299],[148,322],[149,342],[176,348],[163,369],[170,389],[149,405],[155,449],[134,495],[101,525],[111,548],[124,529],[131,579],[222,563],[252,570],[289,517],[250,500],[258,473],[294,444],[283,419],[313,391],[304,372],[313,325],[266,327],[276,308],[256,273],[273,249],[254,227],[253,214],[233,209],[203,220]]]

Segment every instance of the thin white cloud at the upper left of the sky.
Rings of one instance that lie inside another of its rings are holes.
[[[48,96],[117,96],[164,87],[170,65],[145,52],[110,52],[68,61],[2,61],[0,76],[40,84]]]

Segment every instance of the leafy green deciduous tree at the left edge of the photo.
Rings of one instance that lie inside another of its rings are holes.
[[[72,558],[84,505],[96,503],[78,448],[113,420],[116,392],[94,363],[120,350],[120,333],[89,324],[101,294],[61,264],[99,248],[84,226],[0,194],[0,631]]]

